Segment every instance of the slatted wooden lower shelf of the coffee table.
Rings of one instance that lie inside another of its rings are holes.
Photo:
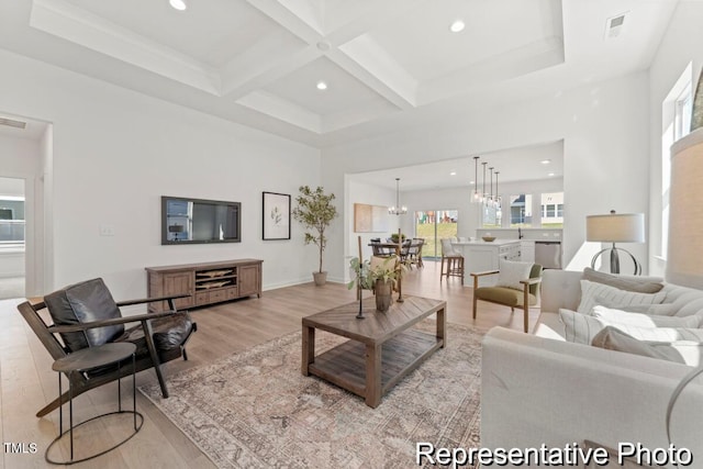
[[[420,331],[406,331],[384,342],[381,349],[381,395],[443,345],[443,338]],[[366,345],[349,339],[316,356],[308,371],[367,398],[366,356]]]

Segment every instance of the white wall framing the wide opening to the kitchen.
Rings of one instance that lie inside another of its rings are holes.
[[[648,210],[647,97],[647,74],[637,72],[510,108],[467,109],[464,115],[434,126],[323,149],[323,183],[327,190],[344,193],[346,174],[563,138],[563,189],[569,206],[565,261],[569,268],[581,269],[600,248],[584,243],[587,214]],[[335,255],[328,259],[336,261],[331,265],[332,275],[341,275],[348,243],[343,231],[335,234],[328,245]],[[646,246],[627,247],[646,265]]]

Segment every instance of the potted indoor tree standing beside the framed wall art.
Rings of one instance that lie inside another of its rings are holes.
[[[325,284],[327,272],[322,270],[322,254],[327,245],[325,230],[337,216],[337,208],[332,201],[334,193],[326,194],[321,187],[312,190],[308,186],[299,188],[299,196],[295,198],[298,205],[292,210],[293,219],[305,227],[305,244],[315,244],[320,249],[320,267],[313,272],[316,286]]]

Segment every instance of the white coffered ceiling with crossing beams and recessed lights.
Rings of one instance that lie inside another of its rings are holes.
[[[186,1],[5,0],[0,47],[324,147],[646,69],[677,3]]]

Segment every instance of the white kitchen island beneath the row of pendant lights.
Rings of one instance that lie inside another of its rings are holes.
[[[464,256],[464,284],[472,286],[471,272],[498,270],[499,259],[520,260],[518,239],[467,241],[451,243]],[[479,287],[493,287],[498,276],[479,278]]]

